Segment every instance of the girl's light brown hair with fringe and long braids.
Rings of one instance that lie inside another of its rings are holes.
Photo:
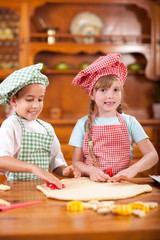
[[[114,81],[120,82],[119,78],[115,75],[107,75],[99,78],[93,88],[93,94],[95,94],[99,88],[110,88]],[[121,91],[122,91],[122,101],[117,108],[117,112],[119,113],[122,113],[122,103],[123,103],[123,96],[124,96],[123,87],[121,87]],[[96,105],[95,101],[91,99],[89,112],[88,112],[87,137],[89,142],[89,158],[92,164],[98,167],[98,163],[96,162],[96,159],[94,158],[94,154],[93,154],[93,142],[92,142],[92,122],[93,122],[93,113],[95,111],[95,105]]]

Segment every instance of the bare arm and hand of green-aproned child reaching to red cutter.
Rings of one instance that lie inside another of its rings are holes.
[[[11,172],[28,172],[43,179],[44,181],[54,183],[61,188],[62,184],[53,174],[45,171],[37,165],[20,161],[10,156],[0,157],[0,169]]]

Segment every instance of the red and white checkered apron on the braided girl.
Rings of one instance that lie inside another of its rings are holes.
[[[113,175],[129,167],[131,160],[130,138],[127,125],[117,113],[120,125],[92,126],[93,153],[99,167],[112,169]],[[87,165],[93,165],[89,158],[87,132],[83,141],[83,154]]]

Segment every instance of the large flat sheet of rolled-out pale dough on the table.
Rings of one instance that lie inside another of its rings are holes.
[[[65,188],[51,190],[46,184],[43,184],[38,185],[37,189],[48,198],[80,201],[124,199],[152,191],[151,186],[147,184],[93,182],[87,177],[62,179],[60,181],[65,184]]]

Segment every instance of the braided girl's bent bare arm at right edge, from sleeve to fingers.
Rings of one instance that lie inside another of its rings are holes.
[[[113,178],[109,180],[109,182],[129,180],[130,178],[135,177],[138,173],[150,169],[158,162],[158,154],[149,139],[144,139],[138,142],[137,146],[143,154],[143,157],[138,162],[131,165],[129,168],[117,173]]]

